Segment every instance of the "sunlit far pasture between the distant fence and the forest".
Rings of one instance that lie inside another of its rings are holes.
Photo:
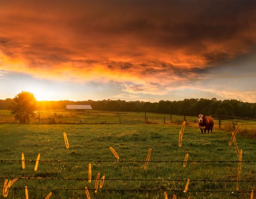
[[[40,114],[40,115],[39,115]],[[35,114],[35,118],[31,118],[32,123],[38,123],[38,118],[54,118],[56,123],[74,124],[74,123],[87,123],[87,124],[101,124],[111,123],[143,123],[145,122],[145,112],[111,112],[111,111],[75,111],[75,110],[38,110]],[[160,113],[146,113],[146,118],[150,123],[163,123],[164,118],[166,122],[170,122],[170,114]],[[197,120],[197,117],[189,117]],[[80,121],[81,120],[81,121]],[[183,115],[172,115],[172,121],[183,121]],[[139,121],[139,122],[138,122]],[[10,114],[9,110],[0,110],[0,123],[15,122],[14,117]],[[47,121],[41,122],[47,123]]]

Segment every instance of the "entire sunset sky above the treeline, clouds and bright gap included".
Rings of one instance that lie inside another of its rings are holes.
[[[0,99],[256,102],[255,0],[0,0]]]

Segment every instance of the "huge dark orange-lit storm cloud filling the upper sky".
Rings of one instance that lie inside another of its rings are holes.
[[[0,4],[0,69],[35,78],[117,81],[134,94],[213,92],[201,84],[209,71],[255,52],[254,0]]]

